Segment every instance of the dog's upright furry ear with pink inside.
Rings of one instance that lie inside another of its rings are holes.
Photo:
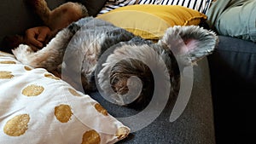
[[[176,59],[188,66],[211,54],[218,37],[199,26],[173,26],[166,30],[158,43],[171,49]]]

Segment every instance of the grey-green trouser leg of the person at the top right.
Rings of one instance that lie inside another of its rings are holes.
[[[255,8],[255,0],[218,0],[207,12],[208,23],[220,35],[256,42]]]

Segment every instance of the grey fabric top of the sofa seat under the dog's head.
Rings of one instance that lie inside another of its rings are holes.
[[[132,132],[126,139],[118,143],[214,144],[212,95],[207,59],[199,61],[198,66],[194,67],[194,72],[192,95],[183,114],[176,121],[172,123],[169,121],[173,107],[173,103],[169,101],[163,112],[160,113],[160,116],[153,123],[142,130]],[[99,101],[102,107],[106,107],[108,112],[118,119],[130,117],[139,112],[127,107],[115,106],[104,100],[99,93],[91,94],[91,97]],[[132,124],[125,125],[129,126]]]

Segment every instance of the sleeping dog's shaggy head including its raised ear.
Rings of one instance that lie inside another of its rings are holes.
[[[174,26],[158,43],[119,43],[96,73],[97,81],[116,104],[148,104],[156,87],[177,93],[179,72],[211,54],[217,42],[215,33],[198,26]]]

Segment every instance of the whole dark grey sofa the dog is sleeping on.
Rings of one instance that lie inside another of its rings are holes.
[[[47,0],[47,2],[49,7],[54,9],[61,3],[65,3],[65,0]],[[86,7],[92,5],[91,8],[96,9],[101,7],[97,4],[102,4],[102,1],[97,1],[98,3],[89,3],[90,0],[85,2]],[[0,13],[1,40],[7,35],[22,34],[29,27],[42,25],[41,21],[35,14],[31,13],[22,0],[3,0],[0,9],[2,10]],[[96,9],[89,9],[90,15],[95,15]],[[223,138],[229,138],[224,137],[227,132],[236,135],[236,139],[239,140],[243,134],[247,135],[247,131],[241,131],[247,129],[243,126],[246,123],[241,124],[239,121],[247,121],[249,115],[240,119],[236,117],[236,114],[250,110],[251,107],[247,107],[247,102],[252,102],[251,98],[253,99],[252,96],[255,95],[253,89],[256,82],[256,44],[231,37],[219,37],[219,40],[217,50],[208,57],[208,60],[203,59],[198,66],[194,67],[192,95],[183,114],[171,123],[169,118],[173,103],[168,102],[163,112],[153,123],[142,130],[131,133],[119,143],[213,144],[216,142],[223,143]],[[239,47],[245,47],[245,49],[239,49]],[[3,43],[1,43],[0,49],[4,49]],[[230,55],[237,49],[245,51],[238,55],[239,59],[232,59],[234,57]],[[244,59],[247,57],[246,55],[252,56],[250,61]],[[242,64],[245,68],[249,67],[250,71],[243,71],[238,65],[240,59],[243,60]],[[227,88],[226,85],[229,87]],[[114,117],[130,116],[137,113],[136,110],[117,107],[105,101],[97,92],[90,94],[90,96],[99,101]],[[230,121],[237,122],[236,126],[230,124]]]

